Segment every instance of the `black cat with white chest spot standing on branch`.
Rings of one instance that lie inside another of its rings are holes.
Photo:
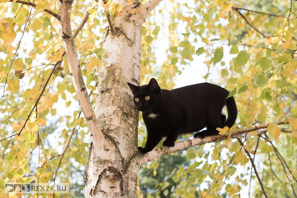
[[[152,78],[143,86],[128,85],[148,131],[145,148],[138,148],[143,154],[153,150],[163,137],[167,137],[163,146],[174,146],[180,134],[198,132],[204,127],[207,129],[196,133],[195,138],[217,135],[217,127],[230,128],[237,117],[234,98],[227,98],[229,92],[215,84],[199,83],[166,90]],[[227,120],[222,114],[224,105],[227,106]]]

